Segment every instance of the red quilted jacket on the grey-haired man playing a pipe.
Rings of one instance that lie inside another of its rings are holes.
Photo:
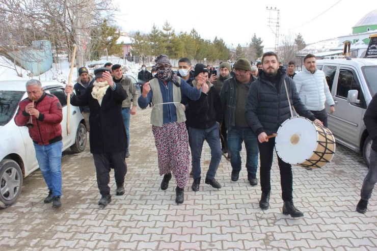
[[[23,99],[18,105],[19,109],[14,118],[17,126],[25,126],[30,119],[26,113],[25,106],[31,103],[29,98]],[[38,145],[49,145],[62,140],[63,110],[59,99],[49,93],[43,92],[42,97],[34,102],[35,108],[39,111],[39,118],[33,116],[33,128],[29,128],[29,134],[33,142]]]

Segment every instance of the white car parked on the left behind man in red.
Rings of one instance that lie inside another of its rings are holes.
[[[0,81],[0,208],[14,203],[21,193],[23,178],[39,168],[33,141],[26,126],[14,122],[18,103],[28,97],[26,81]],[[79,107],[70,106],[70,135],[67,135],[67,96],[64,85],[42,82],[46,93],[57,96],[63,107],[63,151],[84,151],[87,130]]]

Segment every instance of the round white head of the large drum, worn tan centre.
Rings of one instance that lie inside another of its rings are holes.
[[[275,147],[279,157],[289,164],[298,164],[313,155],[318,141],[314,124],[305,118],[291,118],[279,127]]]

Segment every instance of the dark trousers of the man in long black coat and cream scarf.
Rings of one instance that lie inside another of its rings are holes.
[[[115,182],[124,183],[124,177],[127,173],[127,164],[125,153],[93,153],[94,165],[96,166],[97,185],[102,195],[110,194],[110,170],[114,169]]]

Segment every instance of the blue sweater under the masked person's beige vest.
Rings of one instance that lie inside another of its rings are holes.
[[[169,81],[168,85],[165,86],[164,82],[158,79],[159,87],[161,90],[161,94],[163,95],[163,102],[169,103],[173,101],[173,82]],[[186,81],[181,78],[181,95],[183,97],[187,97],[191,100],[198,100],[200,98],[200,94],[202,93],[202,89],[196,89],[191,87]],[[152,100],[153,92],[150,90],[147,97],[144,98],[143,95],[140,95],[138,99],[139,106],[141,108],[146,108],[149,102]],[[156,105],[156,104],[153,104]],[[164,114],[164,124],[172,123],[177,121],[177,111],[174,104],[157,104],[153,109],[163,108]]]

